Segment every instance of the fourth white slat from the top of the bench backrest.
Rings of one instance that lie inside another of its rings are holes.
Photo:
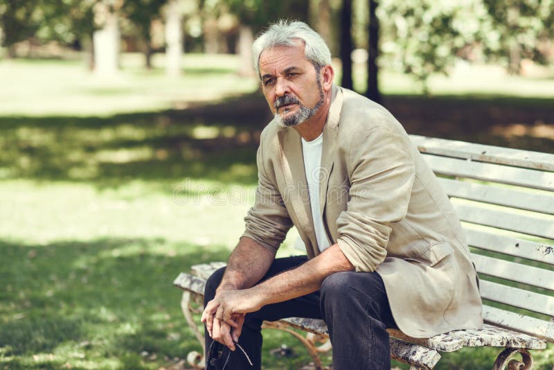
[[[452,202],[452,206],[454,206],[454,210],[456,210],[456,214],[461,221],[554,239],[554,217],[548,216],[551,218],[551,220],[548,220],[456,202]]]

